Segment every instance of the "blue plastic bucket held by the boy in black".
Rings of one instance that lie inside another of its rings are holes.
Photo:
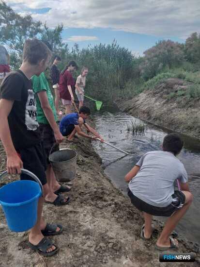
[[[12,182],[0,188],[0,204],[11,231],[24,232],[35,225],[41,194],[40,185],[29,180]]]

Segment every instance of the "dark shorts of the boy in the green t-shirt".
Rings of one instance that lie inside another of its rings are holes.
[[[48,157],[49,157],[50,153],[59,150],[59,145],[56,144],[56,140],[54,137],[53,130],[51,129],[51,126],[49,124],[45,124],[45,123],[39,123],[39,124],[40,124],[39,131],[41,134],[43,146],[44,146],[45,153],[46,153],[46,161],[48,164],[50,164]]]

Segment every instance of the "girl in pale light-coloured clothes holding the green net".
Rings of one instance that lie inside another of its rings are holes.
[[[79,109],[83,106],[85,80],[87,75],[88,75],[88,68],[83,67],[81,70],[81,74],[77,77],[75,92],[79,101]]]

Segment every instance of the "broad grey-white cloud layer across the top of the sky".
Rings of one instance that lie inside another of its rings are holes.
[[[200,30],[199,0],[7,0],[20,13],[49,7],[32,16],[49,27],[112,28],[163,37],[186,37]],[[24,9],[23,9],[24,7]]]

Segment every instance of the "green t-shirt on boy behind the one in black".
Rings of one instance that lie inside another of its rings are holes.
[[[51,90],[48,86],[48,82],[46,80],[45,73],[42,72],[40,74],[40,76],[36,76],[36,75],[32,76],[31,81],[32,81],[33,91],[35,93],[35,98],[36,98],[37,121],[39,123],[45,123],[45,124],[49,123],[48,120],[46,119],[45,113],[41,107],[41,103],[40,103],[40,100],[39,100],[38,95],[37,95],[38,92],[41,92],[44,90],[46,91],[48,102],[49,102],[49,105],[53,111],[55,121],[57,121],[58,119],[57,119],[57,115],[56,115],[56,109],[54,106],[54,100],[53,100],[53,96],[51,94]]]

